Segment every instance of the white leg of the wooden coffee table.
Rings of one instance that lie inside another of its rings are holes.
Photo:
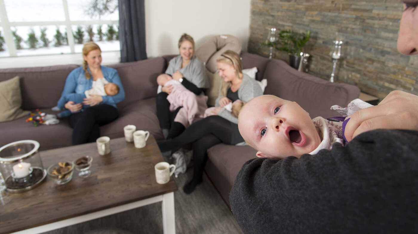
[[[174,214],[174,193],[163,195],[163,231],[164,234],[176,234],[176,218]]]

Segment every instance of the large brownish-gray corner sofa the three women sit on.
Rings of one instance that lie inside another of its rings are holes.
[[[155,107],[157,93],[156,78],[164,73],[168,61],[174,55],[146,60],[109,65],[115,68],[125,89],[125,99],[117,103],[119,118],[100,127],[101,136],[122,137],[123,127],[133,124],[137,129],[150,131],[155,139],[162,140],[163,134],[158,123]],[[345,83],[330,83],[324,79],[291,68],[283,60],[268,59],[260,55],[241,53],[244,68],[257,68],[255,78],[267,79],[265,94],[273,94],[296,101],[311,117],[332,117],[337,113],[330,106],[347,104],[359,97],[356,86]],[[20,77],[21,108],[25,111],[53,113],[51,107],[61,96],[67,75],[78,65],[59,65],[38,68],[0,69],[0,82],[15,76]],[[208,70],[209,76],[214,76]],[[34,126],[26,122],[28,116],[0,123],[0,146],[7,143],[32,139],[40,143],[40,150],[71,145],[72,129],[68,119],[55,125]],[[235,177],[245,161],[255,157],[250,146],[218,144],[208,150],[205,171],[219,194],[229,205],[229,191]]]

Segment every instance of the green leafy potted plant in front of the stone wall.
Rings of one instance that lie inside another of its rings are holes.
[[[268,41],[264,45],[274,47],[276,50],[286,51],[289,54],[289,64],[298,69],[302,59],[302,48],[311,38],[311,30],[308,30],[306,34],[299,34],[293,30],[281,30],[277,36],[275,41]]]

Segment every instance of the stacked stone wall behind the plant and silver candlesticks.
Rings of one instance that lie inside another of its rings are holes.
[[[418,95],[418,56],[396,49],[403,5],[399,0],[252,0],[248,51],[268,57],[263,47],[269,29],[295,30],[311,39],[308,73],[329,79],[333,40],[344,41],[344,57],[336,68],[336,82],[358,86],[362,92],[384,98],[395,89]],[[288,61],[287,53],[273,58]]]

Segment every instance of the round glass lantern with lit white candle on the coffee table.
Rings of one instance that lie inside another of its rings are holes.
[[[15,141],[0,148],[0,172],[10,192],[26,191],[37,186],[46,177],[39,142]]]

